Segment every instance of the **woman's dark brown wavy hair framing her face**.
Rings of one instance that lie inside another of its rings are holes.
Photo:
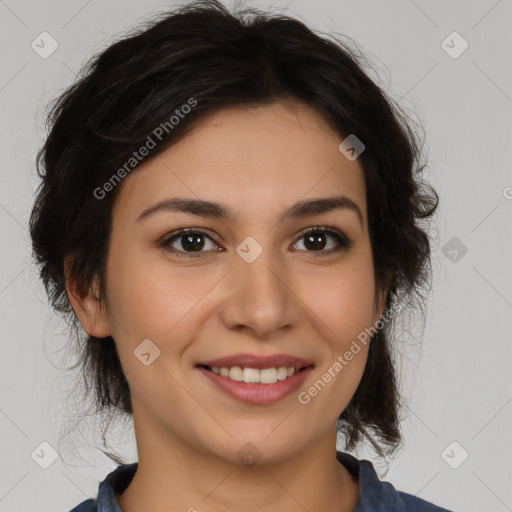
[[[132,413],[130,389],[114,340],[83,336],[66,293],[64,260],[73,257],[72,273],[84,294],[98,279],[99,299],[105,297],[119,187],[102,199],[94,191],[190,98],[194,108],[162,132],[145,161],[209,113],[288,98],[316,109],[340,135],[355,134],[365,145],[358,158],[377,289],[387,290],[386,311],[397,301],[423,309],[431,263],[421,221],[434,214],[439,198],[420,177],[418,124],[413,129],[411,119],[363,71],[366,60],[356,45],[333,39],[288,16],[254,9],[232,14],[216,0],[195,2],[110,45],[54,102],[37,157],[42,182],[30,234],[51,305],[71,320],[80,354],[75,367],[82,368],[86,392],[94,389],[97,412],[111,419]],[[361,436],[381,456],[400,444],[401,399],[388,339],[393,321],[373,335],[362,380],[339,416],[347,449]]]

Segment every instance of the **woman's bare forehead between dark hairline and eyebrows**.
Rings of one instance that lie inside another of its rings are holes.
[[[152,204],[185,196],[261,219],[299,199],[343,194],[365,218],[363,169],[339,151],[343,139],[299,102],[222,109],[125,177],[114,216],[135,221]]]

